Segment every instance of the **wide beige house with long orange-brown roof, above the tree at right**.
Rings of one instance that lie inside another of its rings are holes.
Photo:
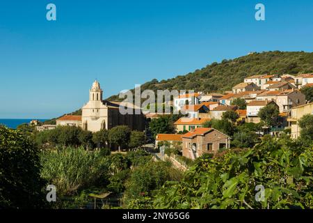
[[[280,112],[290,112],[291,107],[305,104],[305,95],[298,90],[265,91],[257,95],[257,100],[275,101]]]

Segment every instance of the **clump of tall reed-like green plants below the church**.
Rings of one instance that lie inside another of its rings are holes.
[[[41,176],[56,185],[58,196],[75,194],[77,190],[93,185],[104,185],[109,160],[99,152],[83,148],[64,148],[61,151],[44,151],[40,155]]]

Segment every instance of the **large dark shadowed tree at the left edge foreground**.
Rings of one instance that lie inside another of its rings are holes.
[[[43,208],[39,152],[18,130],[0,125],[0,208]]]

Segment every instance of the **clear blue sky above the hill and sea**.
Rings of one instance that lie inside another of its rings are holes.
[[[106,98],[248,52],[313,52],[312,40],[311,0],[1,0],[0,118],[72,112],[95,78]]]

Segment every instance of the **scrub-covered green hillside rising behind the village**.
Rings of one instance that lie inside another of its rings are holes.
[[[241,56],[232,60],[210,65],[186,75],[158,81],[152,79],[141,86],[141,90],[191,90],[203,92],[223,92],[243,82],[251,75],[286,74],[313,72],[313,53],[307,52],[262,52]],[[113,95],[107,100],[120,100]]]

